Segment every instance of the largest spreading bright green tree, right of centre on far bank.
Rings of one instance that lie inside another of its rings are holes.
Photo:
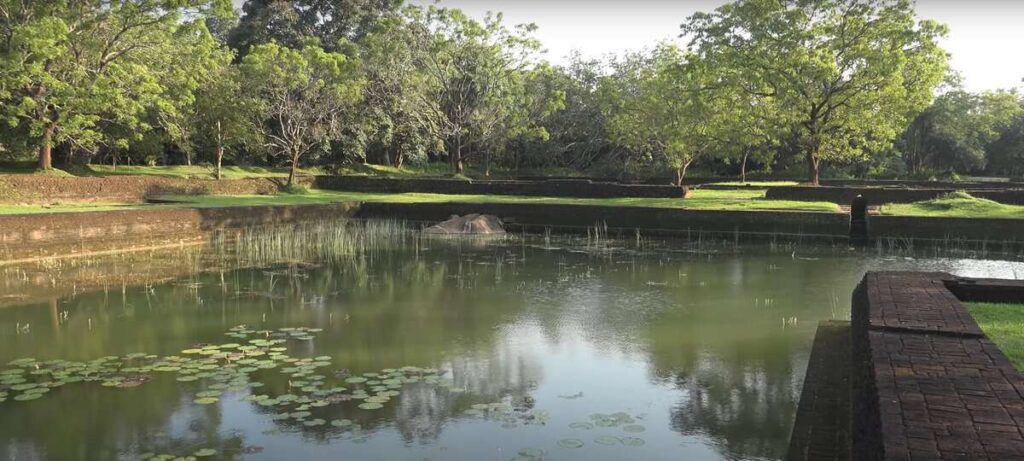
[[[883,150],[928,107],[945,27],[906,0],[738,0],[683,26],[714,67],[771,96],[818,183],[821,163]]]

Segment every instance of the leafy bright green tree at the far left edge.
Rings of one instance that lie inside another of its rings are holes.
[[[27,127],[42,169],[55,144],[126,146],[168,96],[152,66],[164,45],[229,9],[226,0],[0,0],[0,111]]]

